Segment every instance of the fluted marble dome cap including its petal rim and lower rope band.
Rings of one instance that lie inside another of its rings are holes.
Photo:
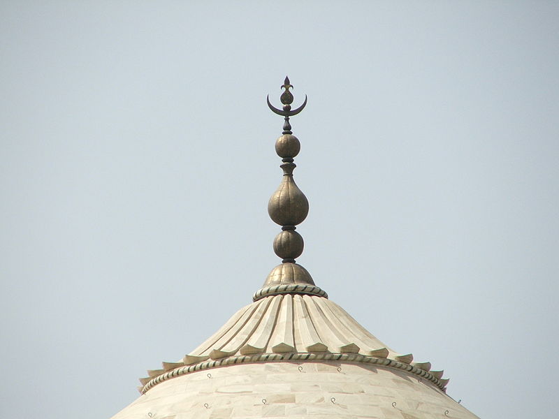
[[[442,390],[447,384],[441,375],[430,373],[430,362],[412,364],[411,354],[393,351],[335,302],[289,293],[242,307],[180,362],[164,362],[164,369],[140,378],[140,392],[173,377],[224,365],[317,360],[382,365],[426,378]]]

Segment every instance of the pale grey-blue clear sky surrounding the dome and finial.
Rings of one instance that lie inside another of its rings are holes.
[[[1,1],[0,416],[99,419],[279,263],[481,418],[556,418],[556,1]]]

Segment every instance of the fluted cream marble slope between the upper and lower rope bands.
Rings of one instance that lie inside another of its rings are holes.
[[[400,356],[334,302],[314,295],[282,294],[243,307],[182,361],[190,364],[187,361],[287,352]]]

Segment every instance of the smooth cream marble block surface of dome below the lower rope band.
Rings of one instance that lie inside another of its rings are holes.
[[[404,371],[347,362],[219,367],[156,385],[112,419],[477,418]]]

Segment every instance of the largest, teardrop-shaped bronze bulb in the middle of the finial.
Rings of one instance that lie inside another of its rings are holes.
[[[309,201],[293,176],[284,175],[282,184],[268,201],[268,214],[280,226],[296,226],[307,218]]]

